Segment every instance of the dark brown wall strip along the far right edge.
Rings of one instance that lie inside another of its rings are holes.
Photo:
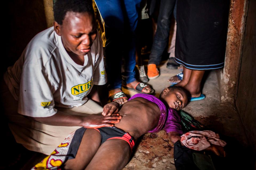
[[[236,105],[256,151],[256,1],[249,1]]]

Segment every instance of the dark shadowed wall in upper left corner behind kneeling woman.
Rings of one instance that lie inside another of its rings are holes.
[[[47,28],[43,0],[15,0],[2,3],[6,8],[6,16],[2,21],[2,41],[5,44],[2,56],[8,60],[1,62],[1,74],[8,66],[14,64],[30,40]]]

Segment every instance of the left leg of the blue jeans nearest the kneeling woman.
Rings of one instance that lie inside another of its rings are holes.
[[[109,90],[121,88],[122,38],[124,32],[124,16],[119,0],[95,0],[104,20],[106,46],[106,74]]]

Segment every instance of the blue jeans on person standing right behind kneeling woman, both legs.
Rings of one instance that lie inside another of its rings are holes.
[[[106,73],[109,90],[135,81],[135,29],[141,0],[95,0],[104,20]],[[122,56],[125,71],[121,75]]]

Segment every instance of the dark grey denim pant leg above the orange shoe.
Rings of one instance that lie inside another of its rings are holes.
[[[155,33],[149,64],[159,65],[163,51],[169,40],[171,15],[175,6],[175,0],[161,0],[157,19],[157,32]]]

